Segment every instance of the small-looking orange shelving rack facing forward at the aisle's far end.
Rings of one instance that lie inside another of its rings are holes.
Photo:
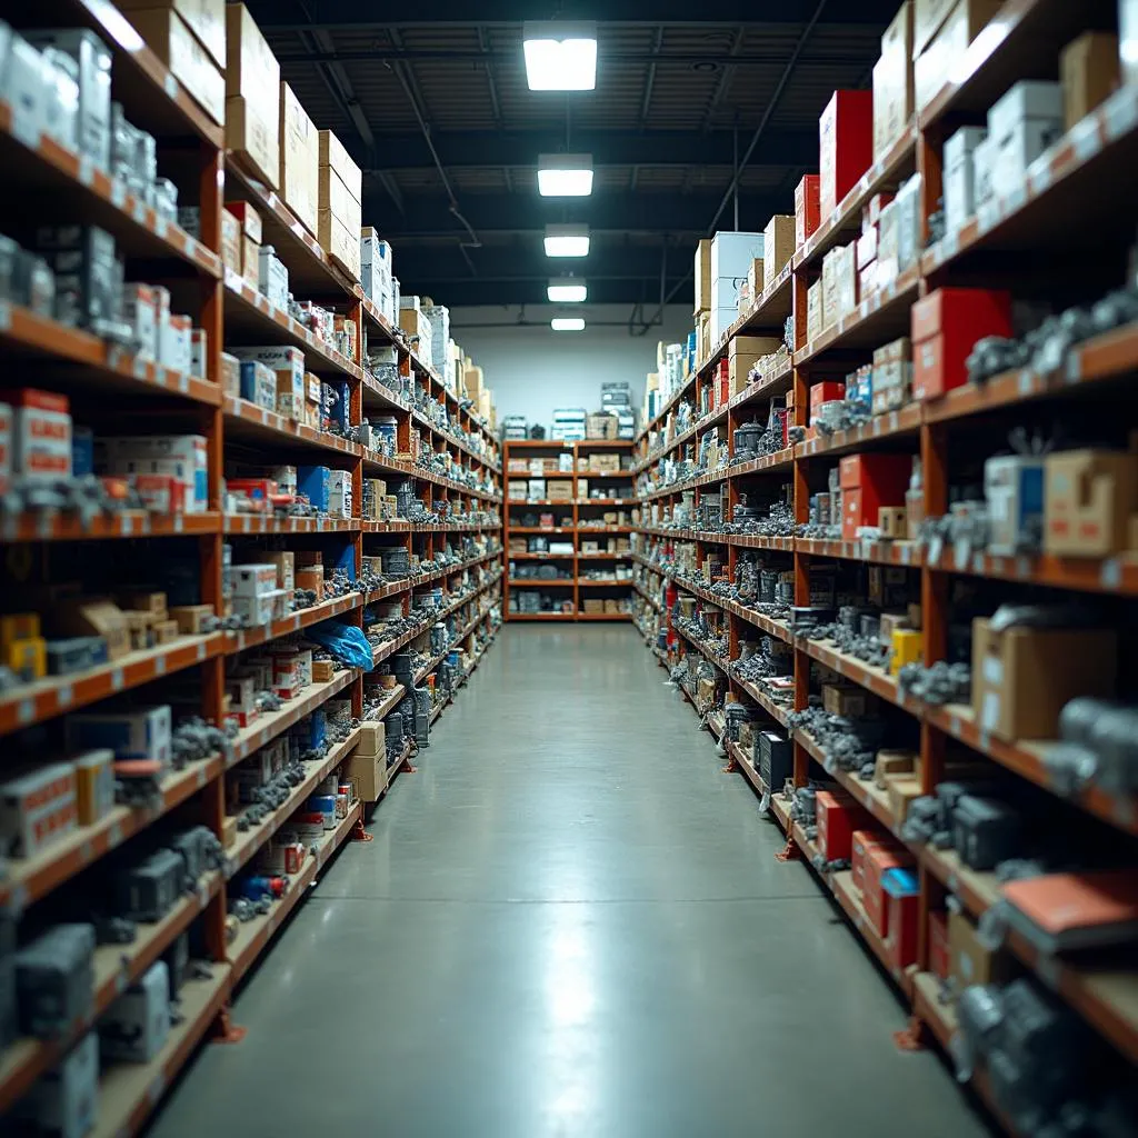
[[[587,439],[579,443],[529,439],[506,442],[503,446],[503,477],[508,487],[503,556],[508,570],[511,564],[516,567],[514,574],[508,574],[505,585],[505,619],[628,619],[632,578],[615,575],[620,567],[630,566],[629,541],[635,520],[635,500],[629,496],[634,475],[628,459],[633,443],[621,439]],[[533,460],[552,459],[556,459],[559,465],[566,469],[530,472]],[[530,478],[544,479],[546,493],[551,492],[551,487],[556,487],[556,496],[530,501],[528,489],[523,496],[510,496],[511,483],[518,484],[516,490],[520,495],[520,484],[528,484]],[[525,516],[535,513],[538,525],[525,525]],[[541,525],[543,513],[552,514],[552,525]],[[534,551],[533,538],[552,538],[554,543],[571,546],[571,552]],[[516,572],[519,563],[551,564],[560,576],[552,579],[518,577]],[[563,609],[518,611],[511,602],[511,591],[520,594],[531,589],[549,589],[554,596],[563,594]],[[602,605],[603,611],[597,611]]]

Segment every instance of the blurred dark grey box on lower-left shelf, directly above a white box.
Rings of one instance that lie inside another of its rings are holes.
[[[91,1014],[94,926],[58,924],[16,953],[19,1030],[38,1039],[65,1034]]]

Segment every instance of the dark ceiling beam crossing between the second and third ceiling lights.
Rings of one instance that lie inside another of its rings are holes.
[[[703,236],[708,217],[719,201],[716,193],[595,193],[572,204],[552,203],[537,195],[469,193],[462,212],[470,226],[483,237],[490,233],[544,233],[549,224],[576,222],[599,233],[661,233]],[[393,213],[381,195],[364,193],[364,215],[374,218],[386,238],[461,237],[469,234],[452,215],[450,203],[439,195],[414,195],[406,212]],[[772,214],[793,213],[791,195],[745,195],[740,197],[740,225],[762,230]]]

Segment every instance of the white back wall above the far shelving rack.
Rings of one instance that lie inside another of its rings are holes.
[[[585,331],[554,332],[550,316],[569,307],[572,312],[564,314],[583,315]],[[539,422],[547,430],[554,407],[596,411],[602,382],[627,381],[638,409],[644,401],[644,377],[655,371],[657,344],[681,344],[693,327],[686,305],[669,305],[662,325],[644,336],[629,336],[629,312],[627,305],[533,306],[526,308],[526,320],[535,327],[502,328],[486,325],[513,323],[517,307],[452,308],[451,335],[483,369],[494,391],[498,422],[503,415],[525,415],[529,423]],[[617,327],[608,327],[610,322]]]

